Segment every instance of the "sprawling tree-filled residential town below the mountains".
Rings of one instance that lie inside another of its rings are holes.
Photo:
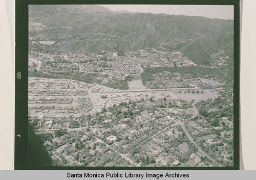
[[[30,51],[29,123],[54,166],[233,166],[232,81],[214,68],[229,58],[216,57]]]

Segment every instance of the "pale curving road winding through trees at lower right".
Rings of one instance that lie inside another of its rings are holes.
[[[195,114],[190,118],[190,119],[193,119],[194,117],[198,116],[199,113],[198,113],[198,110],[197,108],[195,107],[195,104],[196,102],[194,102],[194,104],[192,105],[193,108],[194,108],[194,111],[195,111]],[[211,158],[205,151],[203,151],[203,149],[201,149],[201,147],[199,147],[197,145],[197,143],[194,141],[194,139],[189,135],[189,133],[187,132],[186,130],[186,127],[185,127],[185,119],[183,120],[182,122],[182,128],[183,128],[183,131],[186,133],[186,136],[188,138],[188,140],[193,143],[197,148],[198,148],[198,151],[205,157],[207,157],[209,160],[211,160],[212,162],[214,162],[215,164],[217,164],[218,166],[220,167],[224,167],[222,164],[218,163],[217,161],[215,161],[215,159]]]

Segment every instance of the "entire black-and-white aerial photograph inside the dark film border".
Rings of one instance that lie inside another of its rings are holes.
[[[52,166],[234,166],[233,6],[161,6],[29,5],[28,124]]]

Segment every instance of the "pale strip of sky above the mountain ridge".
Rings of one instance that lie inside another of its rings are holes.
[[[153,14],[204,16],[208,18],[233,19],[230,5],[100,5],[111,11],[130,11]]]

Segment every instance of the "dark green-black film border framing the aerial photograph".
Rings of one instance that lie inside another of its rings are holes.
[[[148,4],[148,5],[233,5],[233,167],[55,167],[28,166],[28,40],[29,5],[54,4]],[[238,170],[240,164],[240,1],[239,0],[16,0],[15,2],[15,170]]]

